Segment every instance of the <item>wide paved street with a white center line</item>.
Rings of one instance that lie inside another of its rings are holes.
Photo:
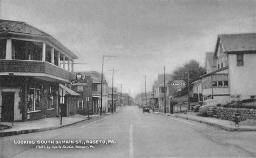
[[[35,144],[17,144],[28,143],[24,140],[35,141]],[[37,144],[37,141],[42,140],[60,141],[61,144]],[[74,142],[67,143],[63,140]],[[98,140],[98,144],[89,142],[93,140]],[[116,114],[104,115],[69,127],[0,138],[0,156],[255,157],[255,146],[256,132],[227,132],[172,116],[143,113],[137,106],[125,106]]]

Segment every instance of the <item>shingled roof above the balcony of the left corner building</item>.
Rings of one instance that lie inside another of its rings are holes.
[[[25,23],[25,22],[16,22],[10,20],[2,20],[0,19],[0,34],[2,36],[14,36],[14,37],[23,37],[23,38],[31,38],[31,39],[41,39],[46,40],[52,45],[56,46],[63,53],[67,53],[73,59],[77,59],[78,57],[71,52],[67,47],[65,47],[62,43],[60,43],[57,39],[50,36],[48,33],[45,33],[33,26]]]

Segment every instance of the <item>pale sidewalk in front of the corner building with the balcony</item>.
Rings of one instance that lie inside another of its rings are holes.
[[[99,115],[90,115],[90,118],[92,119],[96,117],[99,117]],[[9,129],[1,129],[0,137],[58,129],[58,128],[70,126],[85,120],[88,120],[87,115],[77,114],[70,117],[62,117],[62,125],[60,125],[60,117],[45,118],[45,119],[25,121],[25,122],[14,122],[14,126],[12,126],[12,122],[0,122],[0,125],[11,127]]]

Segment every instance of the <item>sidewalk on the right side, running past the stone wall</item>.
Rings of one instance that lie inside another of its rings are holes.
[[[159,112],[154,112],[157,114],[163,114],[167,116],[173,116],[176,118],[196,121],[200,123],[205,123],[207,125],[215,126],[221,129],[229,130],[229,131],[256,131],[256,126],[239,126],[235,127],[235,123],[229,120],[221,120],[217,118],[210,118],[210,117],[201,117],[197,116],[194,112],[187,112],[187,113],[174,113],[174,114],[164,114]]]

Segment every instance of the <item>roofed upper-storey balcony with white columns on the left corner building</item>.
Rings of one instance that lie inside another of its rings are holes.
[[[77,58],[47,33],[24,22],[0,19],[0,75],[69,83]]]

